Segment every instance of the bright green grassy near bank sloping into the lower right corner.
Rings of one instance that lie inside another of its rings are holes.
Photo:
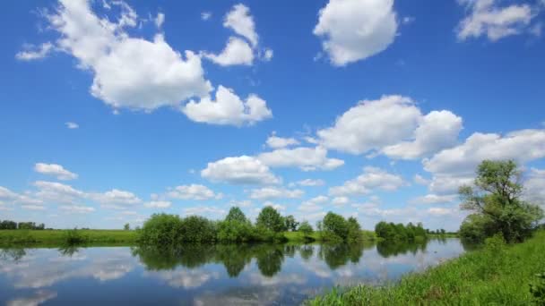
[[[309,305],[532,305],[530,284],[545,272],[545,231],[506,246],[493,240],[394,285],[333,290]]]

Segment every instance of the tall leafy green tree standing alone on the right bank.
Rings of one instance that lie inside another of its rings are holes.
[[[482,227],[487,232],[481,236],[501,233],[506,242],[521,242],[532,234],[543,217],[543,210],[521,199],[523,185],[520,181],[521,173],[512,160],[480,163],[473,185],[463,186],[459,191],[463,200],[461,208],[480,217],[468,217],[460,233],[463,235],[469,228]],[[469,225],[473,219],[480,225]]]

